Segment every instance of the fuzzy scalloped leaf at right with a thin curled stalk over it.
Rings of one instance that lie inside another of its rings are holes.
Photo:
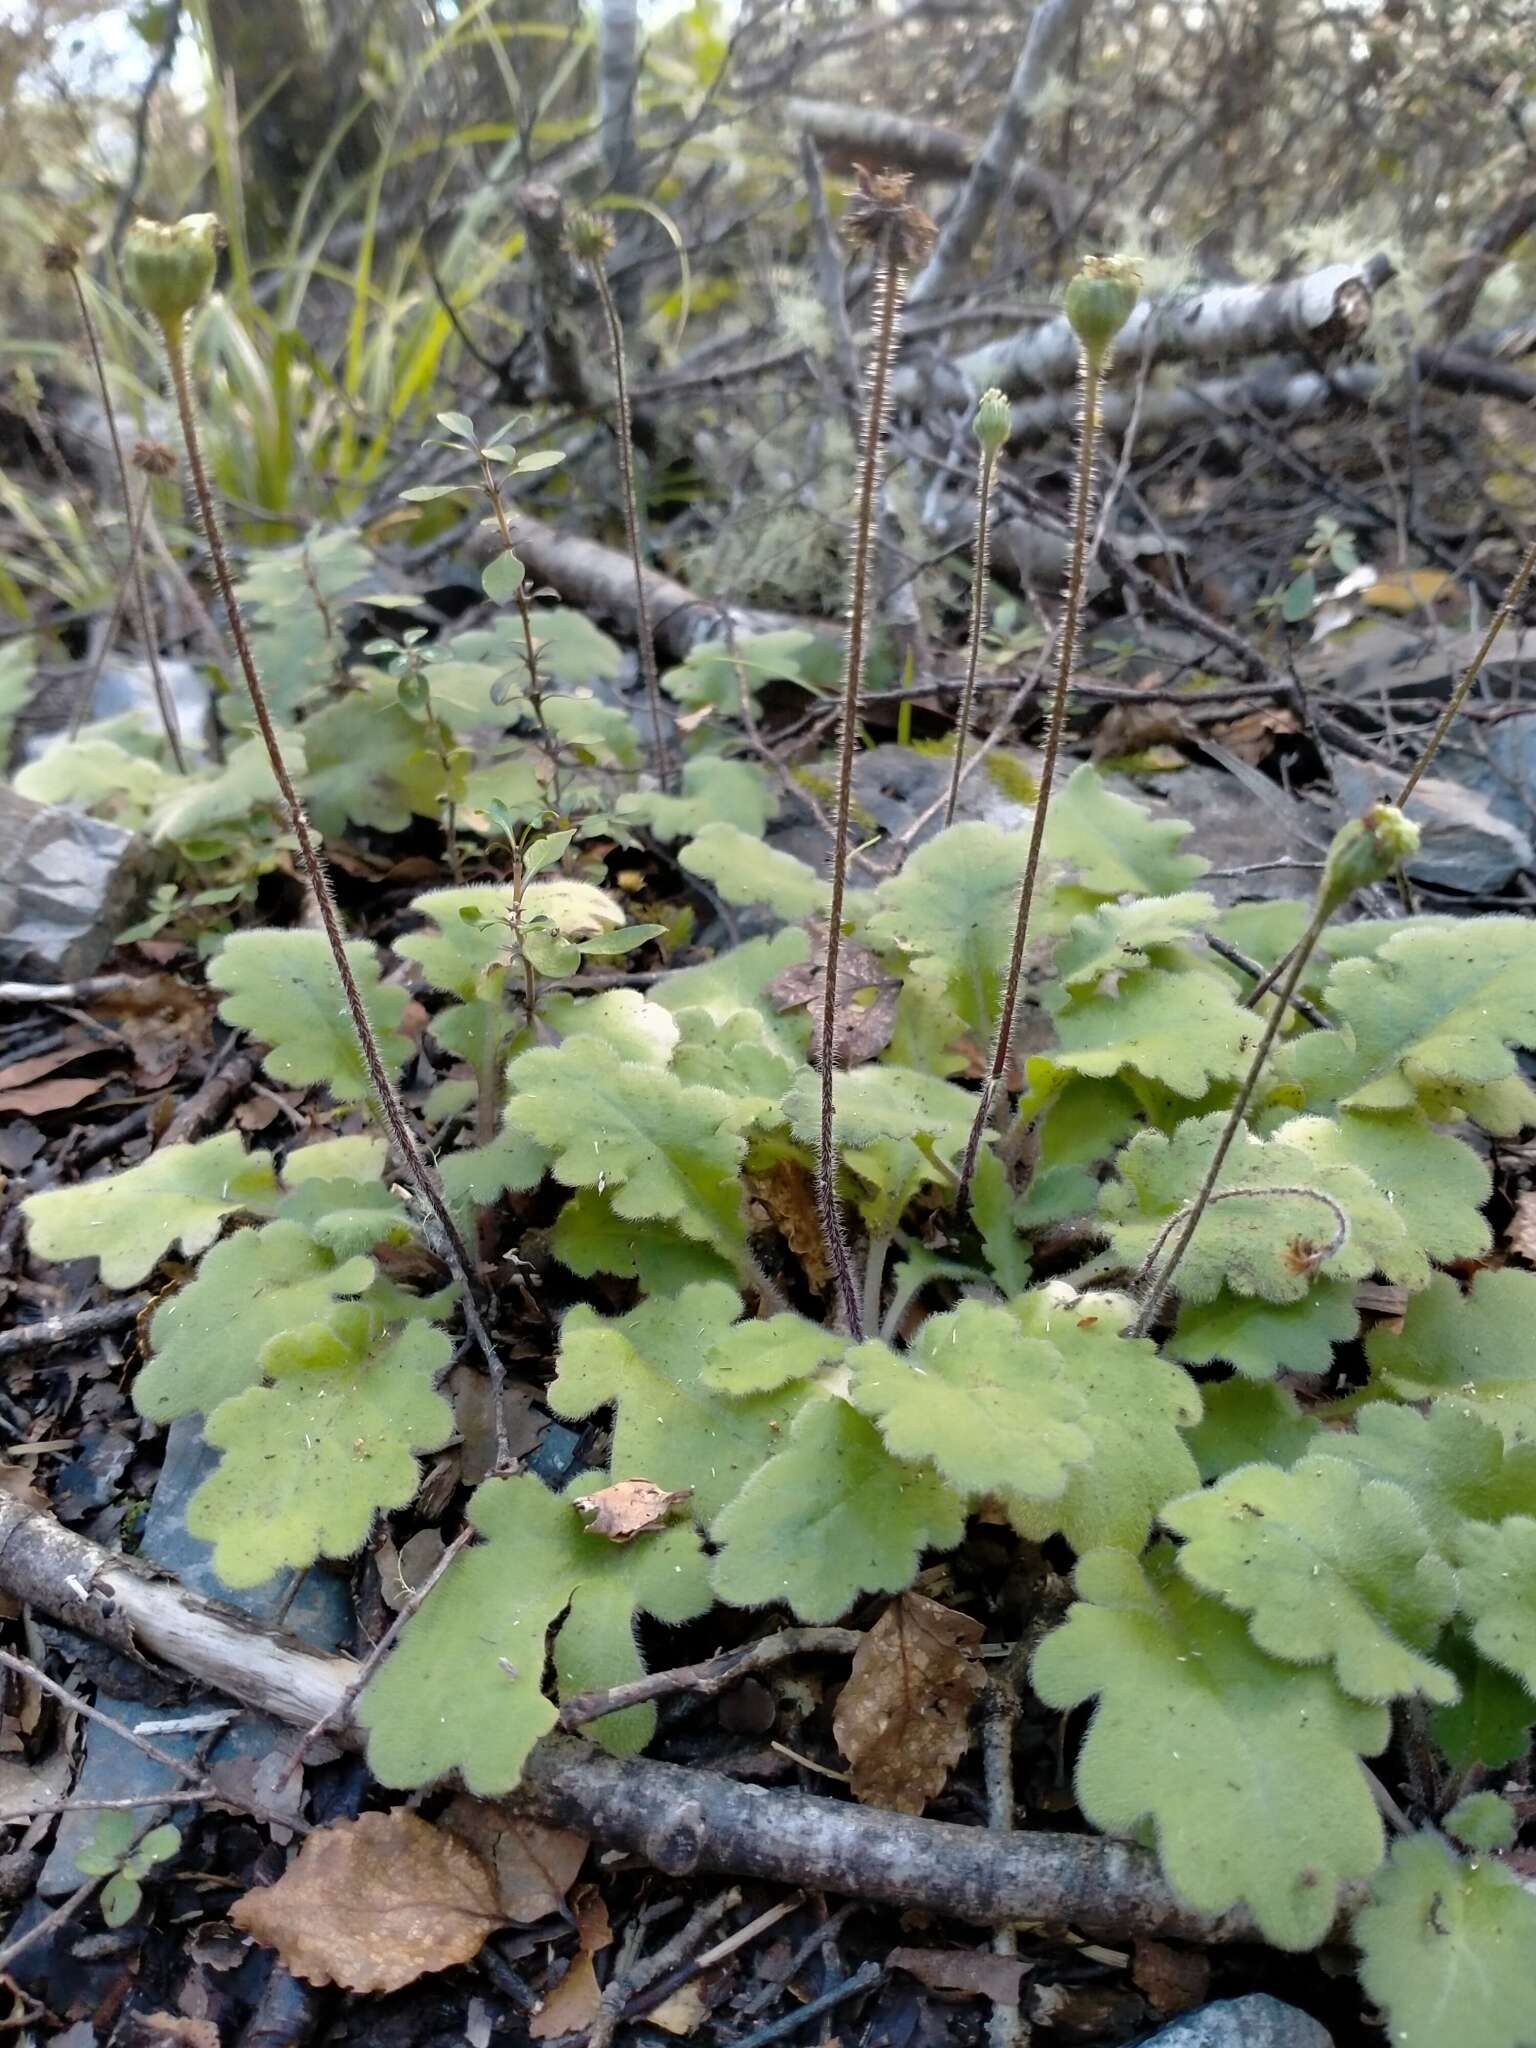
[[[1120,1153],[1120,1178],[1100,1194],[1100,1217],[1116,1255],[1135,1272],[1204,1178],[1210,1153],[1227,1122],[1225,1112],[1192,1116],[1174,1137],[1141,1130]],[[1233,1196],[1229,1190],[1260,1190]],[[1382,1272],[1403,1286],[1423,1286],[1427,1262],[1407,1237],[1407,1227],[1386,1196],[1352,1165],[1323,1165],[1280,1139],[1255,1139],[1239,1128],[1200,1217],[1174,1288],[1184,1300],[1212,1300],[1223,1288],[1264,1300],[1300,1300],[1315,1284],[1296,1245],[1325,1245],[1335,1219],[1311,1194],[1270,1190],[1319,1188],[1350,1221],[1350,1233],[1323,1266],[1327,1280],[1366,1280]],[[1163,1255],[1174,1231],[1163,1239]]]

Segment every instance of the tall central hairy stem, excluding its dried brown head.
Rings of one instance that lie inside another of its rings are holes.
[[[838,952],[842,946],[842,905],[848,889],[848,829],[854,807],[854,752],[858,748],[858,696],[868,662],[870,555],[874,551],[874,506],[881,494],[881,442],[891,408],[891,362],[901,328],[903,270],[895,240],[881,256],[874,293],[874,354],[870,356],[864,434],[858,457],[858,504],[854,510],[854,561],[848,582],[848,647],[842,678],[842,739],[838,748],[838,811],[831,836],[831,905],[827,909],[827,961],[821,977],[821,1133],[815,1161],[821,1237],[838,1276],[844,1319],[854,1337],[864,1335],[864,1315],[848,1255],[848,1235],[838,1204],[838,1141],[834,1128],[834,1081],[838,1073]]]

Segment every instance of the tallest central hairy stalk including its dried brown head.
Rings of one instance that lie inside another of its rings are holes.
[[[854,750],[858,748],[858,696],[868,664],[870,555],[874,510],[881,496],[881,446],[891,412],[891,369],[901,330],[901,295],[907,272],[932,246],[934,225],[907,205],[905,172],[858,172],[858,188],[848,199],[844,227],[854,246],[874,258],[874,346],[868,360],[864,420],[858,446],[858,496],[854,500],[854,553],[848,571],[848,643],[842,674],[842,735],[838,743],[838,811],[831,834],[831,905],[827,911],[827,958],[821,977],[821,1028],[817,1065],[821,1069],[821,1126],[815,1161],[817,1212],[827,1260],[838,1278],[844,1321],[854,1337],[864,1335],[864,1313],[854,1284],[842,1208],[838,1204],[838,1143],[834,1079],[838,1071],[838,952],[842,948],[842,907],[848,889],[848,827],[854,805]]]

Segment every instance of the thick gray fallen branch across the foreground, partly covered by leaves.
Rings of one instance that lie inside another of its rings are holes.
[[[4,1495],[0,1589],[293,1726],[334,1716],[358,1671],[350,1657],[258,1628]],[[344,1722],[332,1733],[356,1739]],[[913,1821],[831,1796],[610,1757],[563,1735],[535,1749],[516,1806],[670,1874],[768,1878],[979,1925],[1063,1921],[1096,1935],[1257,1939],[1243,1913],[1219,1921],[1190,1913],[1157,1860],[1126,1843]]]

